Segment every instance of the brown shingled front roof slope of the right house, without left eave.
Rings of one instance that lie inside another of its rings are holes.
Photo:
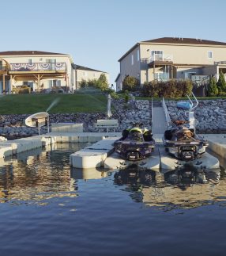
[[[183,38],[183,37],[161,37],[153,40],[141,41],[141,43],[226,45],[226,43],[224,42],[203,40],[201,38]]]

